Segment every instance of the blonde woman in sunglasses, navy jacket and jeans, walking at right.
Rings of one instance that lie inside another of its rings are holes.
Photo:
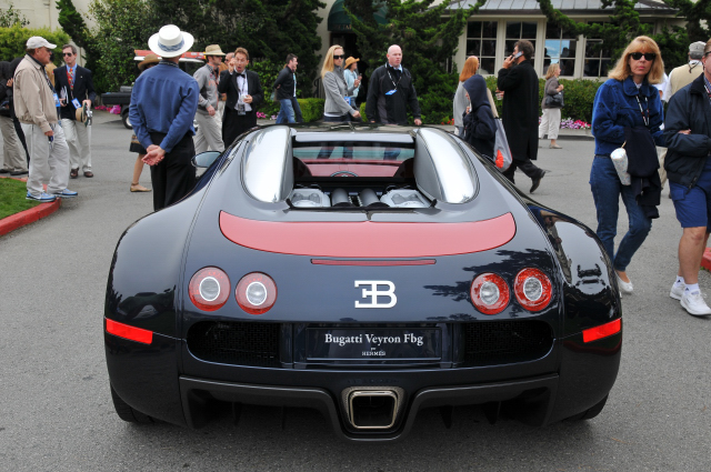
[[[662,104],[657,89],[652,87],[660,83],[663,76],[664,63],[659,47],[651,38],[638,37],[608,74],[610,79],[598,89],[592,106],[595,157],[590,171],[590,188],[598,213],[597,234],[613,262],[618,285],[625,293],[633,289],[627,268],[649,234],[652,218],[659,217],[655,208],[659,198],[652,208],[638,204],[635,185],[622,184],[610,153],[625,143],[625,129],[629,133],[635,128],[647,128],[654,144],[664,145],[660,130]],[[649,145],[654,149],[651,143]],[[629,145],[625,149],[629,153]],[[649,159],[657,161],[657,153],[653,152]],[[620,197],[627,208],[629,230],[615,253]]]

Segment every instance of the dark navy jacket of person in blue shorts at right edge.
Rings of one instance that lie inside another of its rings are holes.
[[[679,133],[685,130],[691,130],[691,134]],[[711,106],[703,89],[703,73],[672,96],[664,138],[669,143],[664,159],[669,180],[692,187],[711,153]]]

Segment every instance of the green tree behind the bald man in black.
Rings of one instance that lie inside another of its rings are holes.
[[[449,2],[432,7],[434,0],[383,0],[387,24],[373,18],[383,2],[346,0],[358,49],[371,69],[382,66],[390,44],[402,48],[402,63],[410,70],[418,92],[422,121],[439,123],[452,113],[451,100],[457,90],[457,68],[448,72],[448,62],[457,52],[467,19],[485,2],[479,0],[468,9],[453,10],[444,17]],[[368,72],[368,71],[367,71]],[[370,70],[372,72],[372,70]]]

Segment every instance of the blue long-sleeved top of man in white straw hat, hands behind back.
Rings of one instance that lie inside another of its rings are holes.
[[[149,133],[166,133],[159,144],[166,152],[189,132],[194,135],[192,119],[198,109],[200,89],[196,79],[178,64],[161,61],[139,76],[131,91],[129,119],[143,148],[153,144]]]

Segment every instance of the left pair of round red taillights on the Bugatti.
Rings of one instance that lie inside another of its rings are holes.
[[[221,309],[230,294],[230,278],[218,268],[203,268],[190,279],[190,301],[203,311]],[[251,272],[240,279],[234,298],[242,310],[250,314],[268,312],[277,301],[277,284],[261,272]]]

